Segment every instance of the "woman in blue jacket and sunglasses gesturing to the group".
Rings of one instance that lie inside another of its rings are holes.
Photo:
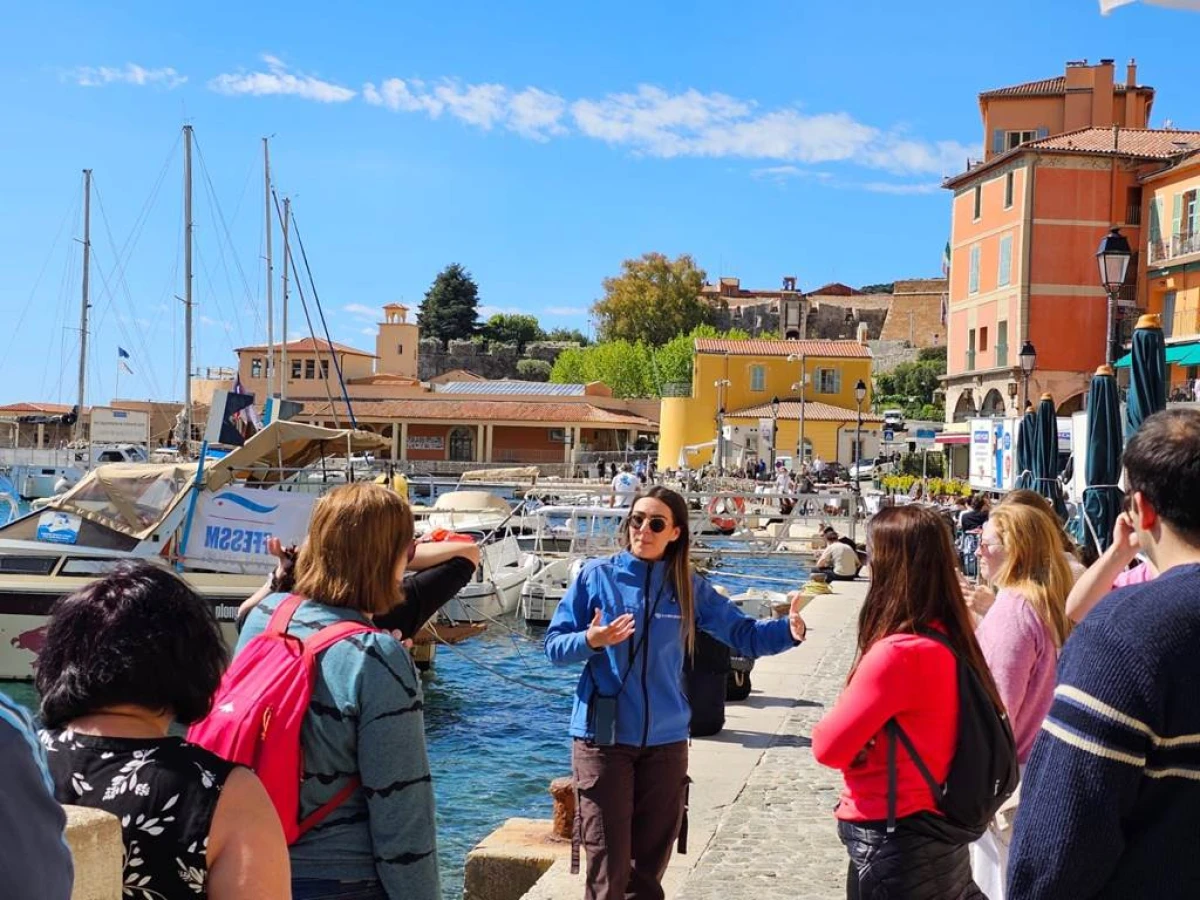
[[[684,648],[696,626],[746,656],[804,640],[790,617],[760,622],[689,568],[688,505],[652,487],[624,524],[626,551],[588,563],[546,631],[556,665],[586,662],[571,713],[576,839],[588,900],[661,900],[688,782]]]

